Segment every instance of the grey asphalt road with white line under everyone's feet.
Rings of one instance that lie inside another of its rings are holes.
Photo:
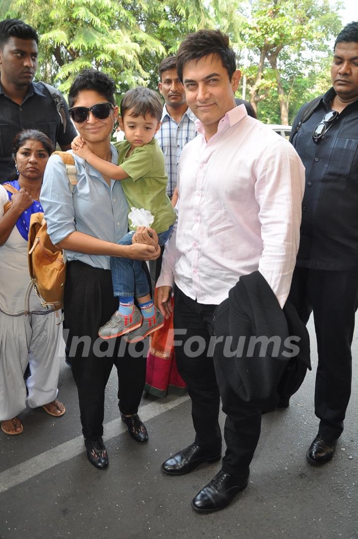
[[[309,330],[312,336],[312,323]],[[358,539],[358,338],[345,431],[334,459],[319,468],[305,458],[318,425],[311,342],[313,371],[290,408],[263,417],[249,486],[228,508],[208,515],[196,514],[190,501],[218,463],[174,478],[160,472],[170,453],[194,439],[188,397],[142,400],[150,438],[141,445],[118,418],[113,372],[105,411],[109,467],[100,471],[87,461],[77,393],[63,364],[59,398],[66,414],[26,410],[21,436],[0,433],[0,538]]]

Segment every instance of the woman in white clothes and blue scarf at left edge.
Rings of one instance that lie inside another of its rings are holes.
[[[18,133],[13,147],[18,178],[0,185],[0,421],[1,430],[9,436],[23,432],[17,416],[25,410],[26,403],[31,408],[42,406],[54,417],[65,413],[65,406],[56,398],[61,339],[57,313],[44,309],[33,291],[30,310],[25,310],[30,281],[30,217],[43,211],[40,189],[52,151],[52,143],[44,133],[34,129]],[[23,374],[27,363],[31,376],[27,379],[26,398]]]

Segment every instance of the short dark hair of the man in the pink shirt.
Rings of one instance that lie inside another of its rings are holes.
[[[219,30],[199,30],[188,34],[176,53],[178,77],[183,82],[183,67],[191,60],[199,60],[209,54],[217,54],[231,80],[236,71],[236,55],[230,47],[229,36]]]

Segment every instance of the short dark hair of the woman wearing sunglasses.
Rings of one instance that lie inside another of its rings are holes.
[[[76,75],[68,92],[68,105],[70,105],[70,108],[73,107],[78,94],[82,90],[93,90],[103,95],[109,103],[115,105],[115,82],[103,71],[84,69]]]

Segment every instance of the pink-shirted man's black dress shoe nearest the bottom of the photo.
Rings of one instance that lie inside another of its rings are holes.
[[[192,500],[191,506],[198,513],[218,511],[228,506],[233,498],[247,487],[249,470],[241,475],[229,475],[222,469]]]

